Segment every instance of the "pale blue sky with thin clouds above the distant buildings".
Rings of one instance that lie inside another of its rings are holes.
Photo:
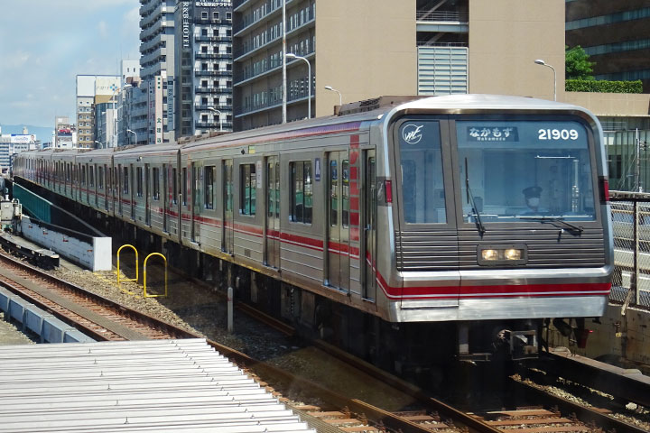
[[[139,60],[138,0],[0,0],[0,125],[75,118],[77,75]]]

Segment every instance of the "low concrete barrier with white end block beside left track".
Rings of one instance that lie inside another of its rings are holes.
[[[21,230],[24,238],[60,253],[71,262],[93,272],[112,269],[113,239],[110,237],[84,235],[63,227],[32,221],[24,215]]]

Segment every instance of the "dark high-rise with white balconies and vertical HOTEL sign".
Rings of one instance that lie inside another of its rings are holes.
[[[232,131],[230,2],[179,2],[175,48],[177,137]]]

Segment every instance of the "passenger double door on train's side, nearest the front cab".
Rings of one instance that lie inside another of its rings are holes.
[[[328,155],[328,284],[349,290],[348,152]]]

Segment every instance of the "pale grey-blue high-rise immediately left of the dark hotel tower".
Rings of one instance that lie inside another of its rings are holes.
[[[132,90],[130,130],[137,142],[166,143],[173,134],[174,9],[176,0],[140,0],[139,91]],[[170,92],[170,89],[172,90]],[[171,93],[171,100],[170,100]]]

